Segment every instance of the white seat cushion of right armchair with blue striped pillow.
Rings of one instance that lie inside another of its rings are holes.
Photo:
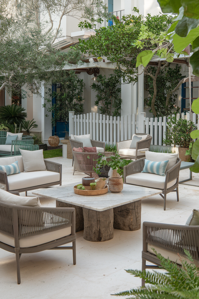
[[[130,176],[127,176],[126,182],[127,184],[158,188],[163,190],[165,178],[166,176],[158,176],[158,174],[154,174],[154,173],[135,173],[135,174],[131,174]],[[167,184],[167,188],[170,188],[173,185],[175,185],[176,180],[177,179],[170,181]]]

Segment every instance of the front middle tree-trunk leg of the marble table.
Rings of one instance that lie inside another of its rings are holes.
[[[113,209],[95,211],[83,208],[84,239],[103,242],[113,238]]]

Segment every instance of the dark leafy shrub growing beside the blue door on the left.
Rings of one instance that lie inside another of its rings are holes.
[[[75,114],[84,113],[82,93],[85,83],[83,79],[79,79],[75,71],[59,71],[55,72],[52,77],[52,83],[59,82],[61,90],[59,93],[52,92],[49,89],[48,97],[45,98],[44,108],[52,113],[52,126],[56,125],[57,121],[67,122],[69,120],[69,111],[74,111]],[[52,104],[52,99],[55,98],[55,104]],[[49,115],[47,114],[46,117]]]

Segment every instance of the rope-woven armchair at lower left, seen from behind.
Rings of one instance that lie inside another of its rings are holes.
[[[0,248],[15,253],[18,284],[22,253],[72,249],[76,264],[75,208],[25,207],[0,202],[0,213]],[[72,246],[58,247],[70,242]]]

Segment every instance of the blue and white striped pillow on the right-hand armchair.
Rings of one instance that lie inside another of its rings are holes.
[[[153,162],[144,159],[144,168],[141,172],[145,173],[155,173],[159,176],[165,176],[166,166],[169,163],[169,160],[162,162]]]

